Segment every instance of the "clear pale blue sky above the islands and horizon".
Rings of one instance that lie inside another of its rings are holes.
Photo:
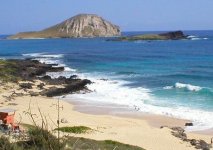
[[[0,34],[38,31],[80,13],[122,31],[213,29],[213,0],[1,0]]]

